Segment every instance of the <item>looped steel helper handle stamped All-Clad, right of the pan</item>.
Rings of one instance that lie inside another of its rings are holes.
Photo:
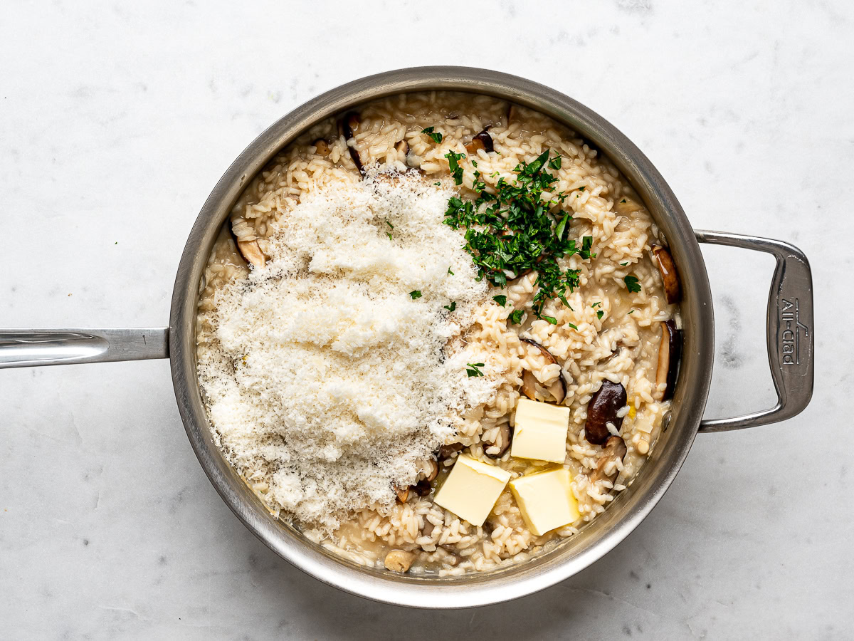
[[[723,244],[745,250],[765,251],[777,265],[768,297],[768,361],[777,391],[770,409],[700,422],[700,432],[727,432],[742,427],[787,420],[810,403],[813,386],[812,273],[804,252],[771,238],[736,233],[696,232],[700,243]]]

